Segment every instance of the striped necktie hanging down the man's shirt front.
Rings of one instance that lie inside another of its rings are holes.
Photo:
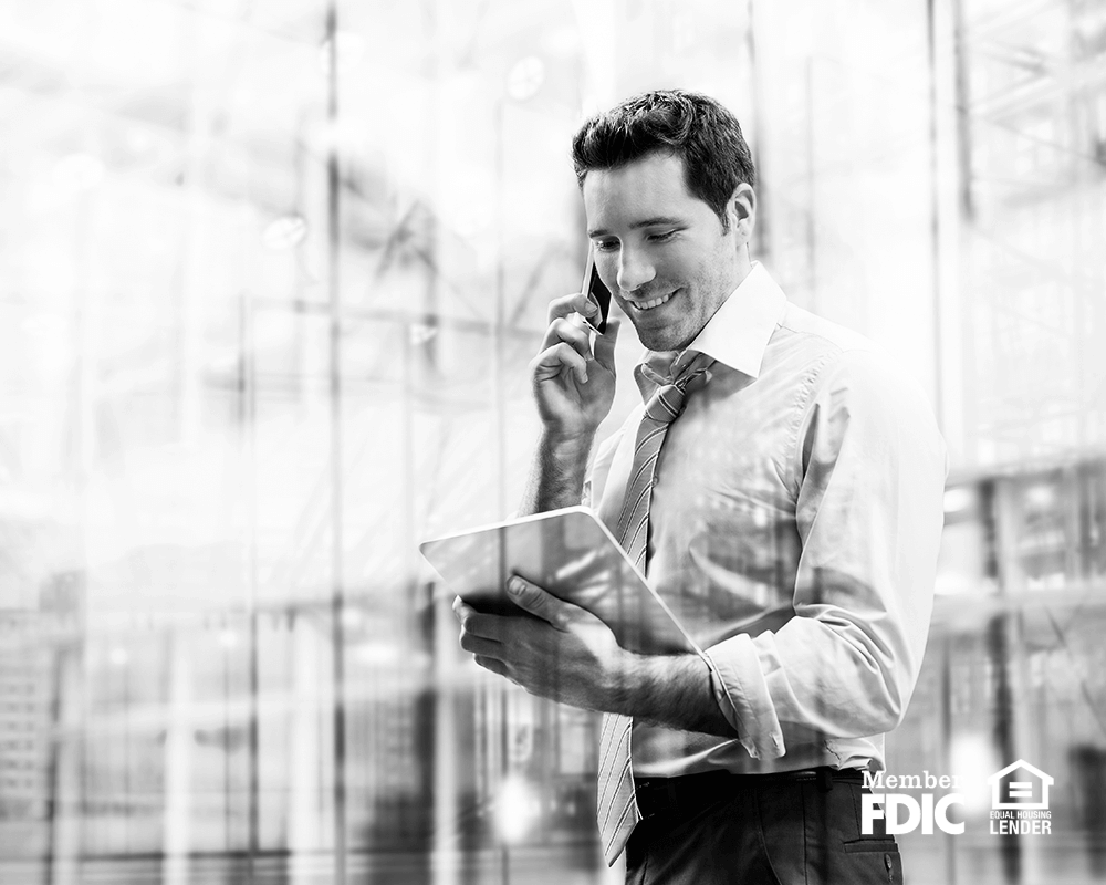
[[[702,377],[714,361],[705,353],[685,352],[672,364],[674,379],[654,391],[637,429],[634,465],[626,498],[618,517],[618,541],[643,574],[649,551],[649,504],[657,459],[668,427],[684,410],[689,386]],[[599,736],[599,777],[596,816],[603,840],[603,857],[609,866],[622,854],[641,814],[634,793],[628,716],[605,714]]]

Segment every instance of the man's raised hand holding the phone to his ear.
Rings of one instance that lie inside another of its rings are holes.
[[[607,321],[606,334],[595,336],[572,319],[593,316],[598,309],[577,292],[550,303],[550,325],[541,352],[530,364],[538,413],[546,433],[557,440],[586,440],[611,410],[615,396],[615,341],[618,321]]]

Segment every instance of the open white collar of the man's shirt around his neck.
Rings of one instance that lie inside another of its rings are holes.
[[[675,351],[647,351],[635,371],[643,397],[657,384],[671,377],[678,357],[685,362],[696,353],[712,356],[719,363],[755,378],[764,351],[775,327],[783,322],[787,299],[783,290],[759,261],[738,288],[707,321],[682,354]]]

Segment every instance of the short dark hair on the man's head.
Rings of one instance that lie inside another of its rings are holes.
[[[654,154],[684,160],[688,190],[729,229],[726,204],[742,181],[757,184],[749,145],[737,117],[706,95],[658,90],[627,98],[586,121],[572,139],[576,181],[593,169],[614,169]]]

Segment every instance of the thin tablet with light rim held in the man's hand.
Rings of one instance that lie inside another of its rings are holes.
[[[596,615],[630,652],[699,650],[589,508],[484,525],[425,541],[419,551],[477,611],[529,617],[507,595],[508,579],[518,574]]]

